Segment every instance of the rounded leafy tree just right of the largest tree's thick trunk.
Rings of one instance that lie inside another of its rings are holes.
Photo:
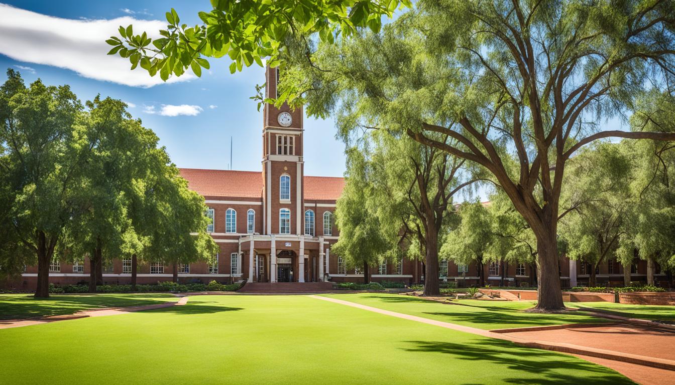
[[[569,188],[562,196],[568,208],[561,215],[560,235],[568,257],[589,265],[589,287],[597,286],[595,269],[614,256],[626,231],[628,210],[634,204],[631,166],[628,153],[611,143],[583,149],[568,165]]]

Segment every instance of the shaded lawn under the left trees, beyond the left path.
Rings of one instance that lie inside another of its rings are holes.
[[[0,320],[14,318],[32,318],[40,316],[60,316],[73,314],[80,310],[100,307],[152,305],[167,301],[178,301],[168,293],[161,294],[95,294],[95,295],[51,295],[45,299],[35,299],[28,294],[0,294]]]

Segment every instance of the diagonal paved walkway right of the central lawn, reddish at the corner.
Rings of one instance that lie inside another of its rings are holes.
[[[470,326],[463,326],[463,325],[458,325],[458,324],[452,324],[450,322],[443,322],[443,321],[437,321],[437,320],[430,320],[429,318],[423,318],[423,317],[418,317],[418,316],[411,316],[410,314],[402,314],[402,313],[397,313],[397,312],[391,312],[389,310],[385,309],[379,309],[377,307],[372,307],[368,305],[361,305],[360,303],[354,303],[350,301],[343,301],[342,299],[335,299],[335,298],[329,298],[329,297],[321,297],[319,295],[310,295],[309,297],[313,297],[315,299],[321,299],[323,301],[329,301],[333,303],[340,303],[341,305],[347,305],[351,307],[356,307],[358,309],[364,309],[368,310],[369,312],[375,312],[379,314],[385,314],[387,316],[392,316],[396,318],[403,318],[404,320],[412,320],[416,322],[422,322],[423,324],[429,324],[429,325],[434,325],[434,326],[440,326],[441,328],[448,328],[452,330],[457,330],[460,332],[466,332],[466,333],[471,333],[471,334],[477,334],[479,336],[485,336],[489,338],[497,338],[500,340],[508,340],[511,341],[512,343],[516,343],[518,345],[522,345],[525,347],[533,347],[533,348],[538,348],[538,349],[545,349],[545,350],[550,350],[550,351],[558,351],[562,353],[570,353],[572,355],[579,356],[580,358],[586,359],[587,361],[599,363],[601,365],[605,365],[607,367],[610,367],[617,372],[623,374],[624,376],[630,378],[631,380],[634,380],[636,382],[639,382],[640,384],[643,385],[662,385],[662,384],[668,384],[672,382],[672,378],[675,375],[675,361],[672,361],[671,359],[666,359],[662,358],[664,355],[659,354],[658,357],[655,357],[653,355],[637,355],[634,353],[628,353],[626,352],[626,349],[621,349],[621,351],[616,351],[616,350],[610,350],[616,345],[610,344],[610,346],[603,345],[602,340],[597,340],[597,344],[586,344],[586,345],[591,345],[591,346],[583,346],[583,345],[573,345],[573,344],[568,344],[564,343],[564,340],[568,340],[569,338],[544,338],[544,340],[540,340],[539,338],[534,339],[535,335],[533,333],[537,332],[548,332],[548,333],[557,333],[560,332],[561,330],[568,330],[566,329],[566,326],[553,326],[549,330],[541,330],[543,328],[538,328],[539,330],[533,331],[536,328],[533,328],[532,330],[528,330],[526,332],[493,332],[490,330],[483,330],[479,328],[472,328]],[[622,327],[624,325],[619,325],[619,326],[587,326],[585,329],[586,330],[593,330],[593,328],[617,328],[617,327]],[[624,327],[626,327],[625,325]],[[578,326],[568,326],[572,330],[579,330]],[[633,327],[633,326],[627,326],[627,327]],[[527,328],[524,328],[524,330],[527,330]],[[606,338],[609,338],[609,340],[617,338],[616,335],[610,336],[607,335],[605,336]],[[576,338],[572,338],[572,340],[579,340],[579,338],[585,338],[585,337],[580,337],[576,336]],[[623,335],[620,336],[620,338],[623,338]],[[605,343],[607,340],[604,341]],[[595,345],[595,346],[593,346]],[[610,349],[603,349],[605,347],[608,347]],[[633,351],[639,351],[640,353],[647,353],[649,354],[649,351],[645,352],[644,349],[633,349]],[[672,352],[672,350],[670,350]],[[672,355],[672,353],[671,353]],[[668,354],[666,353],[666,356]],[[670,357],[670,356],[668,356]]]

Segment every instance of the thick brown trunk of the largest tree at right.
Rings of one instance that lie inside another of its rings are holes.
[[[535,309],[550,312],[565,308],[560,290],[558,272],[558,242],[556,231],[547,231],[545,237],[537,237],[537,258],[539,258],[539,286]]]

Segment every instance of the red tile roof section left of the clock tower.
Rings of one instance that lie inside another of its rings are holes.
[[[179,169],[190,189],[201,196],[261,198],[263,173],[260,171]]]

